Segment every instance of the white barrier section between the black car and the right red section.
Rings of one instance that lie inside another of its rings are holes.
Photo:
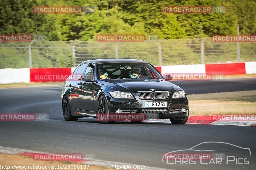
[[[205,73],[204,64],[162,66],[162,74]]]

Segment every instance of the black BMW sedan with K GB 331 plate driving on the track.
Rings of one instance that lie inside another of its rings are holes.
[[[133,59],[88,60],[63,85],[62,110],[67,121],[95,117],[101,123],[144,119],[188,120],[184,90],[150,63]]]

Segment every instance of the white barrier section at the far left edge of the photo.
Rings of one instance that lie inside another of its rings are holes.
[[[29,82],[29,69],[0,69],[0,84]]]

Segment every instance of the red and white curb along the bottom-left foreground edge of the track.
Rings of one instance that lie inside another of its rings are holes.
[[[6,154],[11,154],[11,155],[23,155],[26,156],[28,153],[31,154],[51,154],[48,152],[39,152],[39,151],[32,151],[32,150],[26,150],[26,149],[18,149],[18,148],[9,148],[9,147],[4,147],[0,146],[0,153],[6,153]],[[26,154],[25,154],[26,153]],[[13,160],[15,161],[15,160]],[[72,162],[72,161],[69,161]],[[121,163],[121,162],[113,162],[113,161],[105,161],[105,160],[98,160],[98,159],[91,159],[91,160],[86,160],[84,158],[84,161],[73,161],[75,163],[80,163],[80,164],[86,164],[86,165],[94,165],[94,166],[102,166],[107,169],[110,169],[110,165],[131,165],[133,167],[134,164],[127,164],[127,163]],[[133,169],[133,168],[131,168]],[[147,170],[164,170],[163,168],[157,168],[157,167],[151,167],[151,166],[145,166],[145,169]]]

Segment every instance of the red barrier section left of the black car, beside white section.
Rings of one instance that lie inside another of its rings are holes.
[[[30,82],[65,81],[71,74],[71,68],[30,69]]]

